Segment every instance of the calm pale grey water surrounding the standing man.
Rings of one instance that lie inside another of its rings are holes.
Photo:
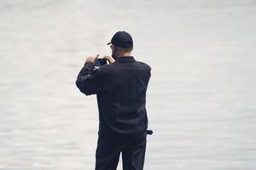
[[[96,96],[75,79],[119,30],[152,67],[146,170],[256,169],[253,0],[0,0],[0,169],[93,169]],[[121,169],[121,162],[119,164]]]

